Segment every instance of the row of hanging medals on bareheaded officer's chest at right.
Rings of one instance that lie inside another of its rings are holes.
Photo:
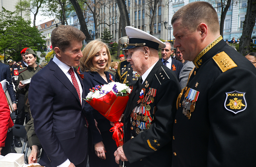
[[[182,113],[187,116],[188,119],[191,117],[191,113],[194,112],[196,101],[199,95],[199,91],[188,88],[185,95],[184,100],[182,102],[183,111]]]

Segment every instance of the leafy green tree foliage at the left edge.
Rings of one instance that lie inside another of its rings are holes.
[[[35,27],[30,27],[31,21],[17,16],[16,12],[10,12],[3,8],[0,12],[0,52],[5,50],[6,60],[20,61],[20,51],[23,48],[32,48],[35,52],[44,52],[45,40]],[[2,19],[3,18],[3,19]],[[37,56],[37,62],[40,57]]]

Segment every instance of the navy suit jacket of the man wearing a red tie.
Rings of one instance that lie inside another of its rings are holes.
[[[74,165],[83,162],[87,153],[87,126],[82,114],[85,101],[81,105],[75,87],[52,60],[33,76],[28,99],[35,133],[43,147],[39,163],[55,167],[67,158]]]

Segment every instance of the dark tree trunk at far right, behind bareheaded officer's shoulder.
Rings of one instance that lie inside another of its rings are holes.
[[[245,20],[243,24],[243,32],[241,36],[241,40],[239,42],[239,52],[242,55],[250,53],[250,43],[251,36],[253,32],[253,27],[255,25],[256,18],[256,2],[255,0],[247,1],[247,11],[245,15]]]

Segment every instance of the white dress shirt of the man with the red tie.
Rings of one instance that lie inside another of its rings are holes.
[[[68,77],[69,81],[73,84],[71,75],[68,72],[69,69],[70,69],[70,66],[68,66],[67,64],[61,62],[56,56],[53,57],[53,62],[56,63],[57,66],[59,66],[59,68],[63,71],[63,73],[65,73],[65,75]],[[79,80],[77,75],[75,75],[75,79],[76,79],[76,81],[77,81],[77,83],[79,85],[80,97],[81,97],[81,100],[82,100],[83,89],[82,89],[80,80]],[[65,162],[63,162],[62,164],[58,165],[57,167],[68,167],[69,165],[70,165],[70,161],[69,161],[69,159],[67,159]]]

